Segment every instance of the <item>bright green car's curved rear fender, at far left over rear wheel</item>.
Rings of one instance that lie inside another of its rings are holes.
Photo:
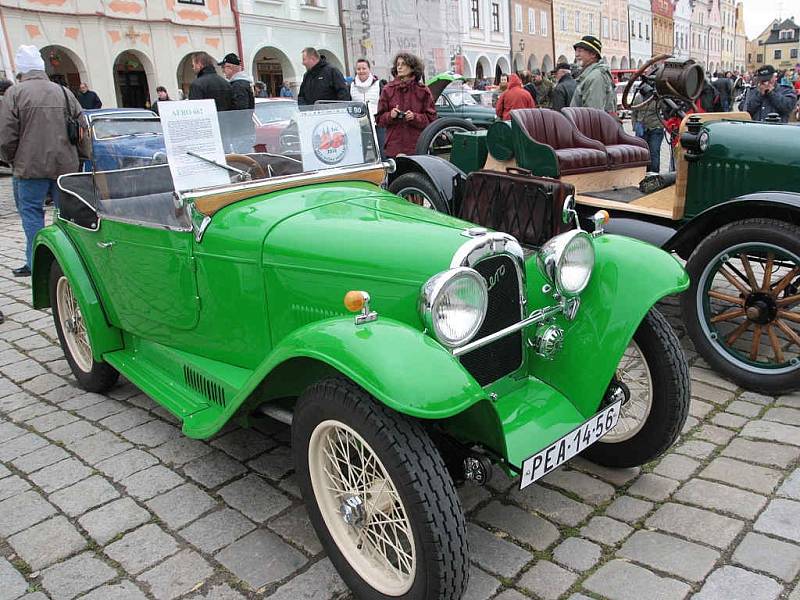
[[[53,261],[61,266],[64,275],[72,285],[72,291],[81,307],[81,314],[87,324],[92,355],[97,361],[103,360],[106,352],[123,347],[122,334],[116,327],[108,324],[103,306],[92,285],[89,274],[67,235],[58,227],[45,227],[36,234],[33,241],[33,307],[47,308],[50,299],[50,266]]]

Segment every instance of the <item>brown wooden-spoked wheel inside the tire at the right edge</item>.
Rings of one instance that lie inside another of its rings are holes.
[[[773,244],[719,253],[698,282],[697,312],[711,343],[752,373],[800,369],[800,257]]]

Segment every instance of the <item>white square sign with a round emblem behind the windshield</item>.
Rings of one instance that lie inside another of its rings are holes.
[[[347,108],[299,112],[297,127],[304,171],[364,162],[361,124]]]

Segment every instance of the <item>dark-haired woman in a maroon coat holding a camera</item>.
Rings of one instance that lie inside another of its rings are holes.
[[[422,61],[406,52],[394,57],[392,75],[378,101],[378,125],[386,128],[385,156],[414,154],[422,130],[436,119],[433,96],[421,82]]]

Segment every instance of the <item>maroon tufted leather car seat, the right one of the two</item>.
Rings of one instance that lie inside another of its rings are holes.
[[[562,112],[578,131],[605,147],[611,169],[627,169],[650,164],[647,142],[625,133],[619,121],[607,112],[597,108],[577,107],[567,107]]]

